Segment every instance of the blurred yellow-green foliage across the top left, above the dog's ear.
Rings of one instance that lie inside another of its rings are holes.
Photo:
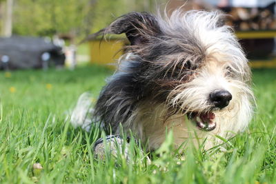
[[[153,4],[153,0],[18,0],[14,3],[13,34],[84,37],[126,12],[152,10]]]

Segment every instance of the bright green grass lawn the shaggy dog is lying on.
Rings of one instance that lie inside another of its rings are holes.
[[[77,97],[97,98],[110,74],[99,66],[1,72],[0,183],[276,183],[275,70],[253,71],[255,118],[226,152],[189,149],[184,160],[168,134],[151,163],[144,154],[97,161],[91,147],[101,132],[74,130],[67,120]]]

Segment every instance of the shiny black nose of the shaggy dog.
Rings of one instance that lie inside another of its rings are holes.
[[[216,108],[225,108],[230,100],[232,100],[232,94],[226,90],[216,90],[215,92],[210,93],[210,101]]]

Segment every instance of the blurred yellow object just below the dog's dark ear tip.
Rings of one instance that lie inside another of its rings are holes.
[[[90,41],[90,62],[115,68],[117,60],[124,54],[126,43],[126,39],[97,39]]]

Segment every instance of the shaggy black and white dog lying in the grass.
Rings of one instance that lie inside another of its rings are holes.
[[[148,150],[158,149],[167,131],[176,147],[191,139],[210,149],[220,143],[217,137],[229,139],[248,127],[254,99],[250,67],[221,12],[130,12],[93,37],[105,34],[126,34],[130,45],[89,110],[89,121],[83,114],[90,104],[79,100],[75,126],[89,130],[97,121],[119,134],[121,125]]]

